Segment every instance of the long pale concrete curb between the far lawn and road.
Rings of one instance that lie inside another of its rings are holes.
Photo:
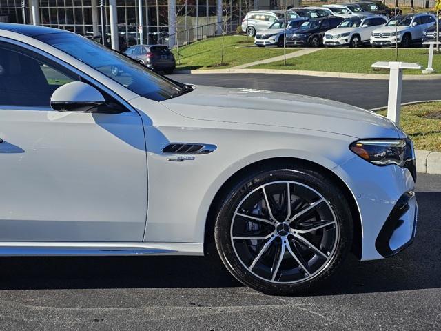
[[[313,76],[349,79],[379,79],[389,80],[389,74],[353,74],[349,72],[328,72],[308,70],[281,69],[207,69],[207,70],[176,70],[175,74],[288,74],[296,76]],[[404,81],[432,81],[441,79],[441,74],[404,74]]]

